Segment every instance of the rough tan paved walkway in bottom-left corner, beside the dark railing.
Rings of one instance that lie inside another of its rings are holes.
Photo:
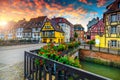
[[[0,80],[23,80],[23,62],[0,69]]]

